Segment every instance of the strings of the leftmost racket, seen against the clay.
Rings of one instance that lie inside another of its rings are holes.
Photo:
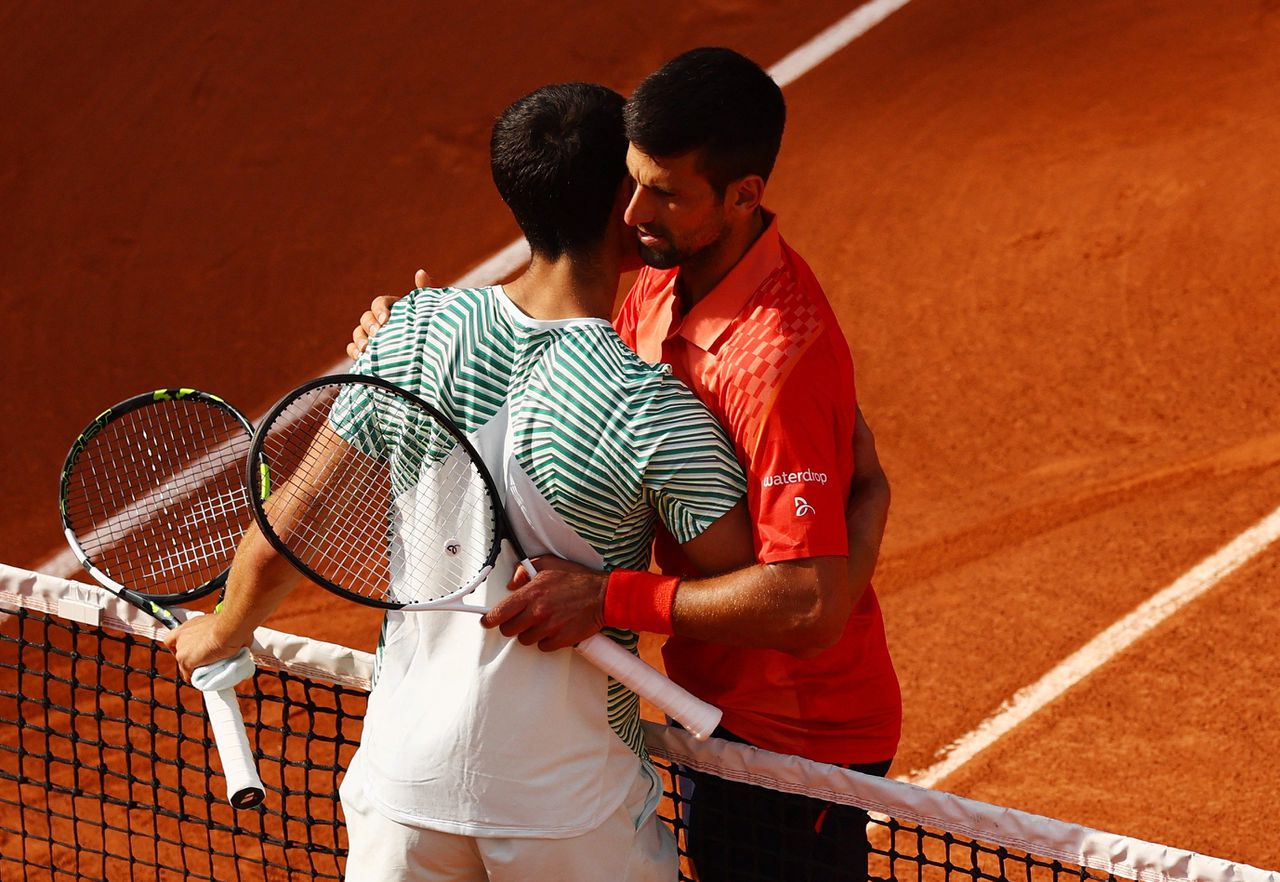
[[[227,568],[248,522],[248,443],[236,415],[201,398],[110,420],[68,480],[67,520],[82,550],[141,593],[197,591]]]

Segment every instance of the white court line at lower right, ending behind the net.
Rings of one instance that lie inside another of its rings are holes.
[[[1030,686],[1024,686],[1000,710],[978,723],[968,735],[940,753],[942,759],[906,776],[922,787],[934,787],[1015,726],[1034,714],[1102,664],[1128,649],[1139,637],[1201,597],[1253,559],[1280,538],[1280,508],[1276,508],[1221,549],[1187,571],[1174,584],[1152,595],[1124,618],[1089,640]]]

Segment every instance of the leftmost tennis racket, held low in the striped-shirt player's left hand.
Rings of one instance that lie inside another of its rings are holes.
[[[251,437],[239,411],[195,389],[147,392],[100,413],[72,444],[59,481],[63,533],[90,576],[178,627],[166,607],[216,590],[251,522]],[[200,668],[193,681],[232,663]],[[228,799],[236,808],[257,805],[262,782],[236,691],[201,694]]]

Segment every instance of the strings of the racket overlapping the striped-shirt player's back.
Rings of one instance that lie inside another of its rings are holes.
[[[360,599],[422,603],[470,588],[490,563],[497,515],[484,477],[411,399],[315,387],[260,434],[276,483],[266,520],[321,580]]]

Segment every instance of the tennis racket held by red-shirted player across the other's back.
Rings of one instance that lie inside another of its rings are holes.
[[[329,590],[383,609],[485,613],[465,598],[511,544],[498,489],[467,438],[417,396],[371,376],[323,376],[287,394],[250,449],[253,517]],[[268,493],[270,490],[270,493]],[[575,649],[699,739],[719,709],[595,634]]]

